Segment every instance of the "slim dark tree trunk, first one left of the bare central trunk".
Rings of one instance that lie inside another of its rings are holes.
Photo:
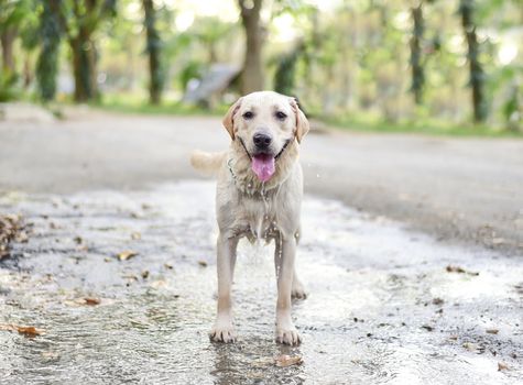
[[[162,42],[156,30],[156,10],[153,0],[142,0],[145,13],[146,52],[149,54],[149,98],[152,105],[159,105],[162,98],[163,74],[160,62]]]

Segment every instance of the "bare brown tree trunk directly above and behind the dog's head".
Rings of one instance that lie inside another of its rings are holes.
[[[263,36],[260,25],[262,0],[252,0],[248,7],[246,0],[239,0],[241,22],[246,31],[246,57],[241,76],[243,94],[263,89],[262,47]]]

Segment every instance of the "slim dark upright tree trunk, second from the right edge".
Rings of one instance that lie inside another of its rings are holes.
[[[414,94],[416,105],[423,102],[423,86],[425,84],[425,74],[422,63],[422,40],[424,32],[423,21],[423,2],[420,1],[417,7],[411,9],[412,20],[414,23],[411,37],[411,68],[412,68],[412,86],[411,91]]]

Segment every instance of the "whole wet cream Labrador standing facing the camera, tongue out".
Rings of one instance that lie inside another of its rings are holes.
[[[217,174],[216,215],[218,311],[210,331],[216,342],[233,342],[231,284],[238,241],[275,242],[276,341],[297,345],[291,298],[306,297],[294,267],[299,240],[303,170],[299,144],[309,131],[295,98],[273,91],[241,97],[224,118],[230,135],[225,153],[194,152],[192,165]]]

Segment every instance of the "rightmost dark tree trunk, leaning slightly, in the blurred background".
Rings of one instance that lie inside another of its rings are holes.
[[[470,87],[472,88],[473,120],[482,122],[487,119],[487,106],[483,94],[484,73],[479,62],[479,42],[473,22],[473,0],[460,0],[459,12],[461,25],[468,45],[467,58],[470,66]]]

